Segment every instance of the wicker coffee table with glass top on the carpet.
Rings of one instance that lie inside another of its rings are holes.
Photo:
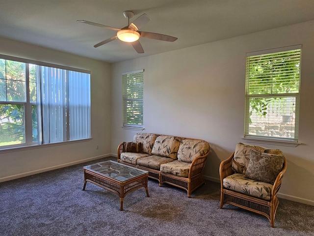
[[[149,197],[147,182],[148,172],[121,164],[116,161],[104,161],[97,164],[84,166],[84,187],[91,182],[105,188],[120,197],[120,210],[123,210],[124,197],[132,191],[145,188]]]

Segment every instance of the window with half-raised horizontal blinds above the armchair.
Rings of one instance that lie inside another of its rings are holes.
[[[298,142],[301,45],[252,54],[246,58],[244,137]]]

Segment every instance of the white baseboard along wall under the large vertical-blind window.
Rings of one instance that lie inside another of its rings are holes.
[[[26,177],[26,176],[32,176],[32,175],[36,175],[36,174],[47,172],[47,171],[53,171],[53,170],[60,169],[60,168],[63,168],[63,167],[73,166],[73,165],[77,165],[77,164],[80,164],[80,163],[84,163],[84,162],[88,162],[88,161],[93,161],[93,160],[105,158],[105,157],[108,157],[108,156],[112,156],[112,154],[105,154],[105,155],[100,155],[100,156],[94,156],[94,157],[82,159],[82,160],[79,160],[79,161],[68,162],[68,163],[65,163],[65,164],[62,164],[62,165],[47,167],[47,168],[43,168],[43,169],[40,169],[40,170],[25,172],[25,173],[13,175],[13,176],[2,177],[2,178],[0,178],[0,182],[9,181],[9,180],[12,180],[12,179],[22,178],[22,177]]]

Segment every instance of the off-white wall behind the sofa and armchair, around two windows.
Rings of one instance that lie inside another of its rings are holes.
[[[220,162],[230,156],[236,143],[245,142],[242,137],[246,53],[302,44],[299,129],[302,145],[294,148],[260,145],[280,148],[287,158],[288,169],[279,196],[314,205],[313,29],[311,21],[112,64],[112,153],[136,133],[121,128],[121,73],[145,69],[144,132],[208,141],[211,152],[204,175],[219,181]]]

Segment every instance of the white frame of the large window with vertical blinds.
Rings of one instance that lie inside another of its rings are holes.
[[[89,74],[89,78],[91,75],[91,71],[89,70],[85,70],[85,69],[78,69],[78,68],[74,68],[74,67],[68,67],[68,66],[63,66],[63,65],[59,65],[59,64],[52,64],[52,63],[47,63],[47,62],[42,62],[42,61],[37,61],[37,60],[31,60],[31,59],[24,59],[24,58],[18,58],[18,57],[13,57],[13,56],[8,56],[8,55],[2,55],[0,54],[0,59],[5,59],[5,60],[12,60],[12,61],[17,61],[17,62],[22,62],[26,64],[26,76],[25,76],[25,91],[26,91],[26,101],[1,101],[1,104],[22,104],[24,105],[24,119],[25,119],[25,124],[24,124],[24,133],[25,133],[25,143],[22,144],[14,144],[14,145],[6,145],[6,146],[0,146],[0,152],[2,153],[3,151],[5,152],[6,150],[11,150],[11,149],[16,149],[16,148],[24,148],[24,149],[28,149],[28,148],[32,148],[32,147],[40,147],[40,146],[56,146],[56,145],[64,145],[67,144],[69,142],[84,142],[84,141],[88,141],[91,139],[92,135],[91,135],[91,130],[89,132],[89,137],[88,138],[82,138],[82,139],[75,139],[75,140],[69,140],[68,137],[66,140],[61,141],[61,142],[55,142],[55,143],[43,143],[43,141],[39,141],[38,142],[34,142],[33,138],[32,138],[32,106],[33,105],[40,105],[39,101],[34,102],[31,101],[30,99],[30,91],[29,91],[29,84],[30,84],[30,76],[29,76],[29,65],[33,64],[35,66],[47,66],[47,67],[52,67],[52,68],[57,68],[57,69],[63,69],[66,70],[67,73],[69,73],[69,71],[73,71],[73,72],[79,72],[79,73],[85,73],[85,74]],[[38,71],[37,71],[38,73]],[[91,79],[89,79],[89,81],[91,82]],[[90,86],[90,82],[89,82],[89,86]],[[89,87],[90,89],[90,87]],[[41,93],[40,88],[39,90],[37,90],[37,93]],[[91,93],[91,91],[89,91],[89,94]],[[41,94],[39,95],[41,96]],[[90,98],[89,98],[90,101]],[[90,127],[91,127],[91,102],[89,103],[90,107],[89,107],[89,122],[90,122]],[[39,114],[37,116],[38,119],[38,129],[41,130],[41,126],[42,126],[42,115]],[[38,135],[42,135],[42,130],[41,132],[38,132]],[[68,131],[67,131],[68,132]],[[68,136],[68,135],[67,135]]]

